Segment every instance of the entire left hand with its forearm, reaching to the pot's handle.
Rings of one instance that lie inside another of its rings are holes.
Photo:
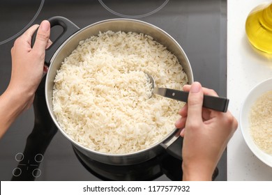
[[[0,138],[22,111],[28,109],[43,77],[45,49],[51,44],[50,23],[43,21],[31,48],[31,37],[38,28],[33,25],[15,40],[11,49],[12,71],[10,83],[0,96]]]

